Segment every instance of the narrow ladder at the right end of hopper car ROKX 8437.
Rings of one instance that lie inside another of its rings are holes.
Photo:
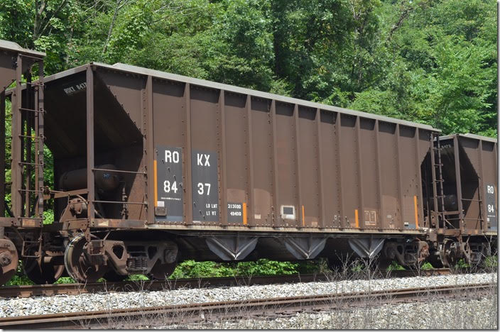
[[[442,179],[441,145],[438,133],[430,134],[430,148],[431,148],[430,163],[432,165],[431,168],[433,175],[433,198],[434,198],[433,216],[435,216],[435,228],[440,228],[440,221],[442,221],[443,226],[446,221],[446,216],[445,216],[446,211],[445,211],[445,191],[442,185],[443,182],[445,182],[445,180]],[[437,162],[435,155],[437,155]]]

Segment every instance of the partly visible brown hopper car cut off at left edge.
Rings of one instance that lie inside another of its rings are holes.
[[[19,259],[26,262],[26,270],[36,270],[42,259],[43,57],[43,52],[0,40],[0,284],[16,273]],[[38,76],[36,84],[31,82],[32,72]],[[22,103],[21,79],[26,83]],[[6,93],[11,84],[14,89]],[[7,137],[9,101],[11,133]],[[12,150],[8,167],[6,143]],[[9,183],[6,168],[11,171]],[[10,204],[4,199],[6,192],[11,193]]]

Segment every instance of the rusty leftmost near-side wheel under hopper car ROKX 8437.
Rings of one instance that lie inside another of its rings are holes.
[[[64,253],[67,273],[76,282],[96,282],[107,272],[104,265],[95,265],[90,262],[87,245],[85,236],[80,234],[70,241]]]

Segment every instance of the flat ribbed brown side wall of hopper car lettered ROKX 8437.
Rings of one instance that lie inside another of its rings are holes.
[[[156,223],[424,224],[430,131],[162,79],[152,104]]]

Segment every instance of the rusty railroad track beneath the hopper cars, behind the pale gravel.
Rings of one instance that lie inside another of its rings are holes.
[[[374,277],[413,277],[415,275],[449,275],[449,269],[433,270],[396,270],[389,273],[376,273]],[[283,284],[297,282],[322,282],[337,280],[332,275],[271,275],[253,277],[214,277],[178,279],[167,281],[124,281],[124,282],[92,282],[87,284],[34,284],[24,286],[0,287],[0,297],[36,297],[58,294],[77,295],[99,292],[136,292],[158,291],[163,289],[201,288],[201,287],[231,287],[252,284]]]

